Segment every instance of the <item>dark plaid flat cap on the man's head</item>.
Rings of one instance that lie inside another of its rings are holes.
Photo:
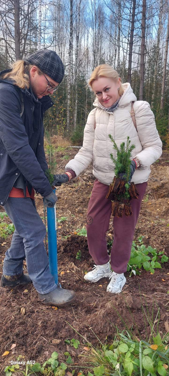
[[[22,59],[28,64],[36,65],[43,73],[46,73],[55,82],[61,83],[64,77],[64,65],[56,52],[52,50],[40,50]]]

